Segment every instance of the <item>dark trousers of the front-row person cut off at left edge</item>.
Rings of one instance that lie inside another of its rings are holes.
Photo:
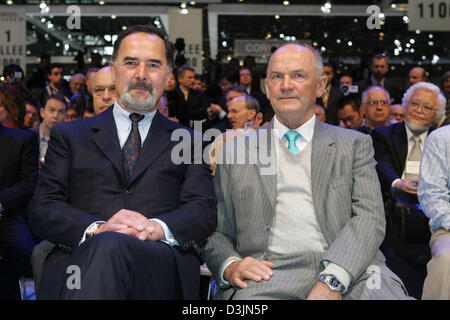
[[[0,219],[0,300],[20,299],[19,279],[31,271],[33,247],[33,236],[22,215]]]

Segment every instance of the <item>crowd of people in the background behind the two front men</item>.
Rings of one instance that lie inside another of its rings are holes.
[[[374,55],[369,69],[369,76],[364,79],[354,79],[347,73],[341,73],[338,78],[336,65],[325,62],[323,74],[327,83],[323,95],[317,97],[315,113],[322,122],[372,137],[377,173],[386,201],[393,197],[393,187],[417,197],[418,171],[412,163],[420,160],[428,134],[450,123],[450,71],[442,74],[440,83],[432,84],[428,82],[427,71],[423,67],[413,67],[409,74],[404,75],[409,87],[403,88],[389,77],[387,57]],[[64,66],[51,63],[49,55],[41,57],[40,66],[28,79],[20,66],[8,65],[3,70],[0,124],[35,133],[40,166],[45,163],[50,132],[54,126],[94,117],[112,106],[116,99],[109,65],[90,68],[85,74],[75,73],[70,81],[64,80],[65,75]],[[257,130],[269,124],[274,117],[273,108],[264,93],[262,78],[255,71],[254,57],[247,57],[242,66],[235,58],[224,65],[207,58],[203,74],[196,73],[188,65],[174,69],[157,107],[169,120],[186,127],[198,129],[195,123],[199,121],[202,131],[215,128],[223,133],[211,148],[214,174],[217,162],[214,159],[225,141]],[[430,92],[434,92],[432,97],[429,97]],[[443,98],[446,98],[446,105]],[[436,107],[427,104],[427,99],[435,99]],[[420,119],[415,113],[420,113]],[[417,128],[419,134],[411,128]],[[411,150],[416,148],[416,140],[410,140],[411,137],[417,138],[417,143],[422,146],[418,155],[411,155]],[[0,158],[7,156],[2,152]],[[398,159],[399,163],[392,159]],[[405,163],[410,172],[405,170]],[[399,262],[397,256],[408,250],[409,253],[412,250],[413,256],[426,256],[425,246],[416,250],[411,249],[410,244],[395,241],[386,242],[383,246],[388,266],[420,298],[427,275],[426,264],[422,262],[417,267],[414,258],[413,263],[409,263],[411,260],[408,258],[405,260],[409,262]],[[29,248],[22,250],[27,255],[29,251]],[[426,262],[430,259],[429,254]],[[23,272],[22,269],[17,270]],[[7,295],[11,296],[11,293]]]

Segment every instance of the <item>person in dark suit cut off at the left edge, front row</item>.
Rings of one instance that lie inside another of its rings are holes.
[[[34,240],[25,207],[38,177],[34,133],[0,124],[0,300],[20,299],[19,278],[30,270]]]

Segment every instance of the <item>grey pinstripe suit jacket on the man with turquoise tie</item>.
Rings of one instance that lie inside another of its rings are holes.
[[[273,121],[254,134],[259,139],[263,130],[271,128]],[[249,137],[241,138],[246,140],[248,152]],[[262,145],[258,145],[261,148]],[[271,143],[265,145],[270,154]],[[202,248],[206,263],[216,279],[220,279],[220,266],[231,256],[267,256],[269,232],[275,215],[277,179],[276,174],[261,174],[262,167],[259,160],[257,164],[247,161],[245,164],[221,164],[217,167],[214,183],[218,225]],[[404,297],[401,280],[385,266],[385,258],[378,250],[385,234],[385,218],[371,138],[317,120],[312,139],[311,179],[315,212],[329,248],[322,253],[321,259],[350,272],[353,286],[368,278],[366,270],[370,265],[381,269],[383,283],[397,284],[396,294],[388,289],[390,285],[373,294],[363,294],[362,287],[365,286],[361,285],[358,290],[350,288],[349,295],[353,292],[352,298],[356,299]],[[319,269],[318,266],[310,267]],[[285,289],[280,288],[281,291]],[[218,297],[229,298],[234,289],[219,291]]]

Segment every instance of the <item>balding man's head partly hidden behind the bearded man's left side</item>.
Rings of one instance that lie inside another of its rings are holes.
[[[92,78],[93,105],[95,114],[100,114],[114,104],[116,86],[114,85],[111,67],[98,70]]]

